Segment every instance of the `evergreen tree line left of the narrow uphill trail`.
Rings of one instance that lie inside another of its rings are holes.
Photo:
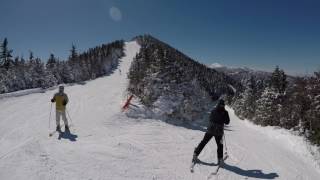
[[[117,67],[124,55],[123,46],[124,41],[114,41],[79,53],[72,45],[67,60],[51,53],[45,62],[34,57],[32,51],[28,58],[13,58],[13,50],[5,38],[0,43],[0,93],[78,83],[106,75]]]

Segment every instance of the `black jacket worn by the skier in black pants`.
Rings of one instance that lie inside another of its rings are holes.
[[[214,136],[222,136],[224,124],[229,124],[230,118],[228,111],[224,108],[215,108],[210,114],[210,122],[207,132]]]

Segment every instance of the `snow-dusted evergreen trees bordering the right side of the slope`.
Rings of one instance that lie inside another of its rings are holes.
[[[266,80],[249,76],[230,99],[235,113],[263,126],[293,129],[320,144],[320,71],[313,76],[293,77],[278,66]]]

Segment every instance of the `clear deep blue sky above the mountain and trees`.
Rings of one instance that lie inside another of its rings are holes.
[[[0,39],[14,55],[65,59],[72,43],[82,51],[148,33],[205,64],[301,75],[320,69],[319,9],[317,0],[0,0]]]

